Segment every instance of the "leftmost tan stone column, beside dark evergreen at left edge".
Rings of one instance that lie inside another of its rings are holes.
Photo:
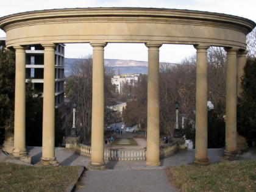
[[[15,113],[13,156],[30,163],[26,151],[26,51],[23,46],[15,46]]]

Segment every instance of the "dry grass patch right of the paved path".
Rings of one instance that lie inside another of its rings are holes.
[[[182,165],[166,169],[182,191],[256,191],[256,161],[209,166]]]

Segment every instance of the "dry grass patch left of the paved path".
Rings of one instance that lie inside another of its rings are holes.
[[[66,191],[80,166],[27,166],[0,163],[0,191]]]

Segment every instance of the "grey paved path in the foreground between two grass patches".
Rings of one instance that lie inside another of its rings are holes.
[[[86,171],[76,191],[179,191],[165,170]]]

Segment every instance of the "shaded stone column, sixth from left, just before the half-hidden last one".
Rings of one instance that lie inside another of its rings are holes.
[[[236,54],[238,49],[226,48],[226,148],[221,162],[235,160],[236,151]]]

